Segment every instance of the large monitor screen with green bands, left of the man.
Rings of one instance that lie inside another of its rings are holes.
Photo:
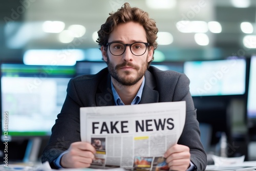
[[[9,136],[48,136],[66,98],[75,69],[65,66],[1,65],[2,118]],[[3,133],[2,133],[3,135]]]

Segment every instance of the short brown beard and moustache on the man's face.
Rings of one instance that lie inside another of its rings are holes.
[[[144,76],[148,68],[148,62],[147,62],[148,57],[146,57],[146,60],[142,63],[142,66],[140,68],[139,66],[134,65],[133,63],[127,62],[127,61],[124,61],[123,63],[114,67],[113,63],[110,62],[109,55],[107,54],[106,56],[107,56],[106,64],[108,65],[108,70],[110,75],[123,86],[133,86],[134,84],[136,84]],[[128,77],[129,75],[132,74],[132,72],[124,71],[125,76],[121,77],[118,74],[117,70],[125,66],[134,68],[137,71],[137,75],[135,77]]]

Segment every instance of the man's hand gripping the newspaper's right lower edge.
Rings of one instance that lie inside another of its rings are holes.
[[[189,147],[185,145],[175,144],[164,154],[166,163],[170,170],[187,170],[190,166]]]

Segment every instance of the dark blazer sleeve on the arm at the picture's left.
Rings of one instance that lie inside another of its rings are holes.
[[[54,126],[52,127],[52,135],[49,143],[44,149],[41,157],[42,162],[48,161],[52,168],[54,160],[64,151],[70,144],[80,140],[80,107],[82,103],[77,94],[73,79],[68,83],[67,97],[62,106],[61,112],[57,115]]]

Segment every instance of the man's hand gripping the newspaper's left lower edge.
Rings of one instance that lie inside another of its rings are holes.
[[[88,142],[74,142],[70,145],[68,153],[64,154],[60,159],[62,167],[82,168],[90,167],[95,148]]]

